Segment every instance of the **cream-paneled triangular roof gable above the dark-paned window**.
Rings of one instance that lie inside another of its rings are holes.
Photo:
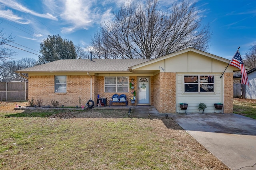
[[[158,72],[223,72],[230,62],[228,59],[212,55],[194,48],[184,49],[169,55],[132,66],[134,73],[142,70],[158,70]],[[229,66],[226,72],[238,68]],[[155,72],[156,74],[157,72]]]

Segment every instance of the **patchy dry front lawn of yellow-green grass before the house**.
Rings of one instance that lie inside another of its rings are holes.
[[[14,107],[0,103],[1,169],[228,169],[172,119]]]

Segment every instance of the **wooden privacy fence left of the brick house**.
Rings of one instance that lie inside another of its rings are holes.
[[[26,101],[28,100],[27,82],[0,82],[1,101]]]

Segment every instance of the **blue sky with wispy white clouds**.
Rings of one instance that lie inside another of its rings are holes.
[[[162,7],[174,0],[159,0]],[[91,37],[102,21],[112,20],[126,0],[0,0],[0,29],[12,33],[17,52],[12,59],[38,59],[40,43],[48,35],[60,34],[75,45],[90,46]],[[242,57],[256,42],[256,0],[196,0],[202,23],[210,24],[208,53],[232,59]],[[32,54],[35,53],[35,54]]]

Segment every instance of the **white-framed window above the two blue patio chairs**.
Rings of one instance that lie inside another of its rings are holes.
[[[129,77],[108,76],[105,77],[105,92],[129,92]]]

